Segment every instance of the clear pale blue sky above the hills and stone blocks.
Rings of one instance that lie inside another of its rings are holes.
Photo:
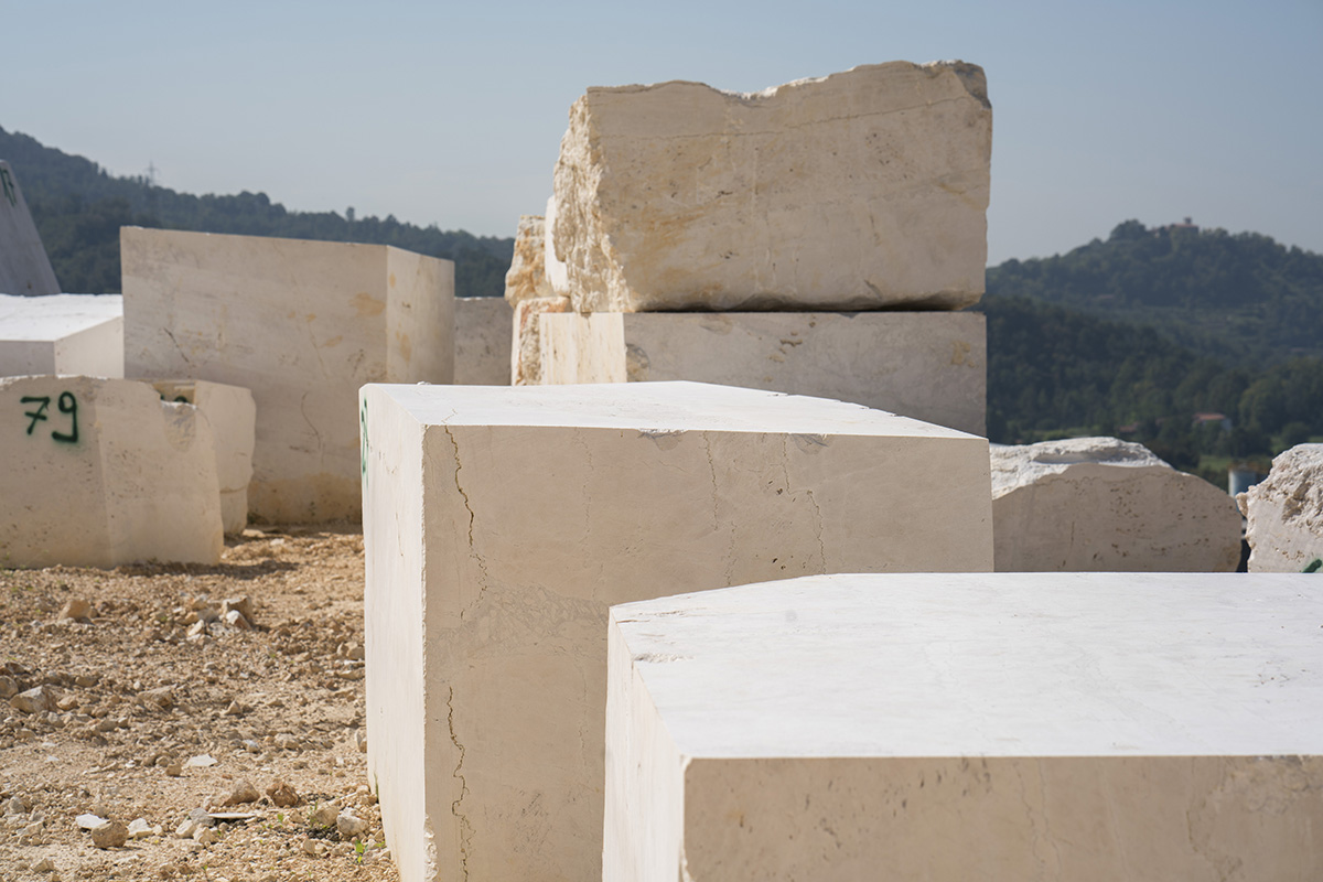
[[[1130,218],[1323,253],[1323,0],[4,7],[0,127],[187,193],[509,237],[589,86],[959,58],[992,102],[990,264]]]

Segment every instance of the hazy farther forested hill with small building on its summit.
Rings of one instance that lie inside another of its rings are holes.
[[[987,292],[1152,325],[1246,366],[1323,356],[1323,255],[1257,233],[1126,221],[1106,242],[991,267]]]

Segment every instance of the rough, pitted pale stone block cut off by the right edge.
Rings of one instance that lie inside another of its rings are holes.
[[[1323,559],[1323,444],[1281,454],[1236,501],[1246,518],[1250,573],[1299,573]]]

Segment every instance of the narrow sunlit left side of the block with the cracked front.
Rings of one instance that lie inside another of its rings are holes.
[[[434,830],[425,813],[431,783],[425,770],[434,766],[426,734],[438,697],[427,690],[422,649],[422,427],[376,386],[360,393],[359,413],[368,782],[381,804],[400,878],[431,882],[445,877],[437,874]],[[445,696],[439,698],[443,706]]]

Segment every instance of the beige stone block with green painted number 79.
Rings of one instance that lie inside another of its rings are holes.
[[[147,383],[0,378],[0,566],[216,563],[224,546],[206,415]]]

